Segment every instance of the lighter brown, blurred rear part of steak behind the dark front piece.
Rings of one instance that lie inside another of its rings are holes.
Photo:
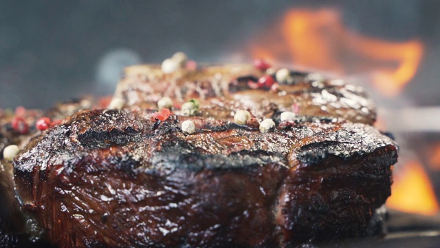
[[[271,118],[274,112],[292,111],[303,116],[329,116],[372,125],[376,113],[373,101],[360,87],[316,74],[291,72],[291,84],[270,89],[250,87],[265,75],[252,65],[208,66],[197,71],[180,70],[164,74],[157,65],[135,65],[125,70],[115,97],[128,110],[156,109],[168,96],[177,105],[190,99],[200,102],[198,116],[231,120],[236,110]],[[177,107],[179,110],[179,107]],[[181,114],[177,111],[175,114]]]

